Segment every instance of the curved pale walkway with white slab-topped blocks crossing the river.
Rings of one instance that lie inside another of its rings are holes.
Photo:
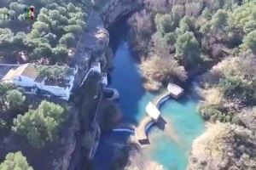
[[[176,84],[170,83],[166,90],[154,98],[152,102],[149,102],[148,106],[150,107],[147,106],[149,109],[146,108],[146,116],[137,127],[120,127],[113,129],[113,131],[133,132],[139,144],[149,144],[148,128],[152,125],[157,125],[161,129],[164,129],[166,123],[165,120],[160,116],[160,105],[166,101],[166,99],[169,99],[170,97],[177,99],[182,94],[183,88],[178,87]]]

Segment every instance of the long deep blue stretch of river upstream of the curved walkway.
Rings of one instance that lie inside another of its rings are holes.
[[[121,20],[109,29],[110,46],[114,54],[114,69],[111,72],[110,87],[119,90],[119,106],[123,112],[124,122],[137,124],[139,101],[145,94],[143,77],[132,56],[128,39],[129,26],[126,20]]]

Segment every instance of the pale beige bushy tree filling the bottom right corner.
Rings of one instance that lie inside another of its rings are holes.
[[[195,139],[189,170],[255,169],[256,138],[252,131],[235,125],[210,125]]]

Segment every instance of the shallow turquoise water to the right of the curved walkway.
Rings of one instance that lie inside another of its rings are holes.
[[[204,122],[197,113],[196,99],[184,96],[178,101],[167,100],[161,107],[161,114],[173,132],[162,132],[154,127],[149,133],[150,157],[165,169],[185,170],[193,140],[204,130]],[[168,126],[168,125],[166,125]]]

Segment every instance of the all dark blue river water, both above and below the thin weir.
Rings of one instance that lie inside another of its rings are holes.
[[[123,112],[123,122],[137,124],[139,101],[145,94],[143,78],[141,77],[136,59],[132,57],[128,39],[129,26],[126,20],[120,20],[109,28],[110,47],[113,49],[114,69],[110,73],[111,88],[117,88],[120,94],[119,106]],[[111,169],[114,156],[121,147],[127,144],[131,133],[104,133],[94,159],[95,169]]]

